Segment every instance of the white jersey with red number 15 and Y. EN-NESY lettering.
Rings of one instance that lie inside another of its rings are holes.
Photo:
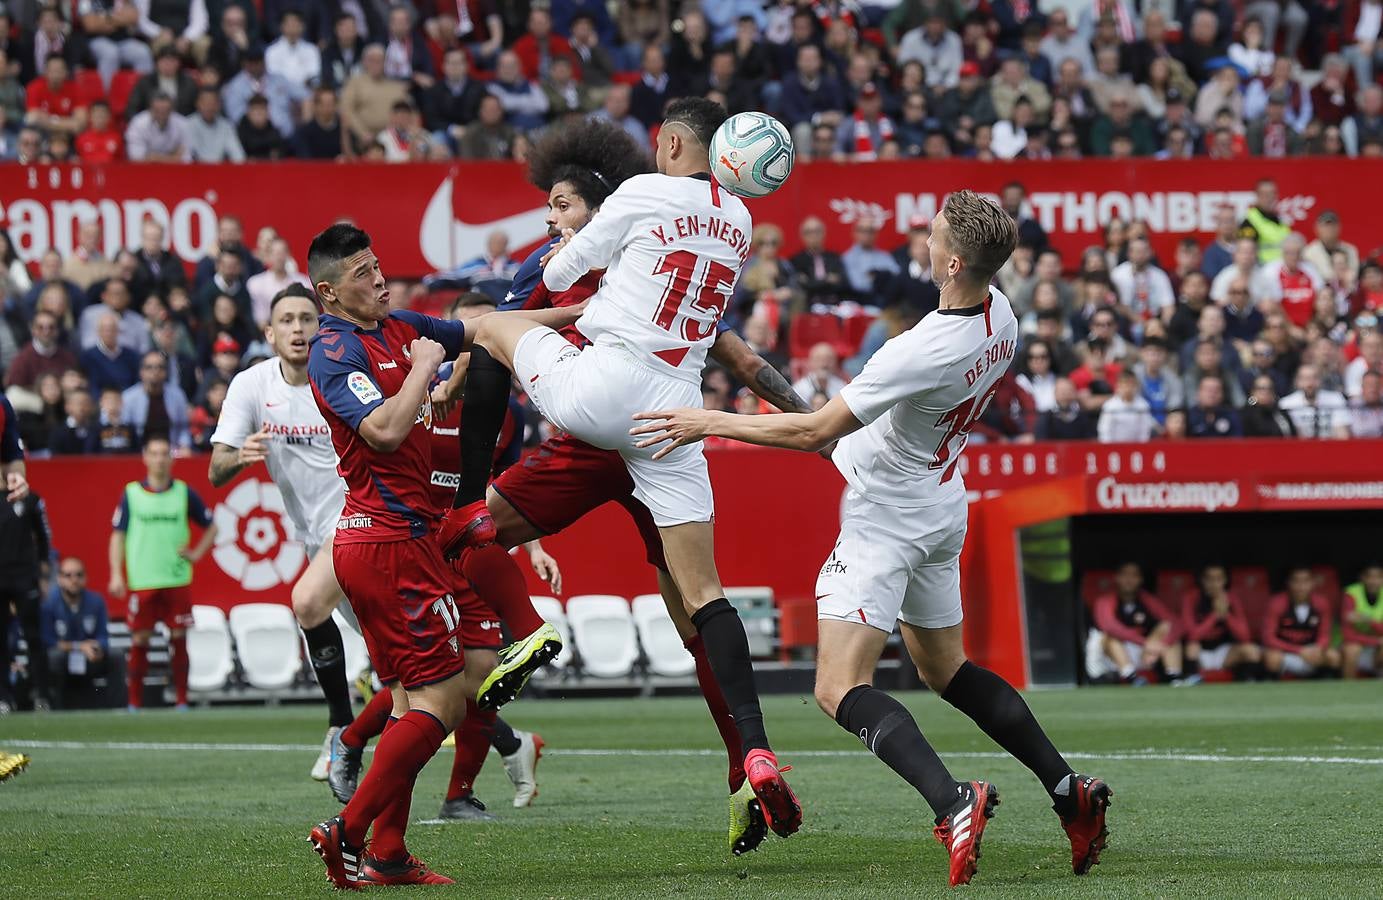
[[[635,176],[548,261],[542,281],[559,292],[606,270],[581,333],[597,346],[624,346],[654,371],[700,382],[752,229],[740,198],[708,174]]]

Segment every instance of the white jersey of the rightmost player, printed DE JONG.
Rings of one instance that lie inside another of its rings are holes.
[[[965,491],[957,463],[1018,348],[1018,319],[989,301],[936,310],[870,357],[841,398],[864,427],[833,455],[851,487],[885,506],[931,506]]]

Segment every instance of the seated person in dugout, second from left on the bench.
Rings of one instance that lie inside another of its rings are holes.
[[[1206,565],[1199,581],[1181,604],[1187,677],[1199,682],[1198,669],[1229,669],[1243,680],[1263,661],[1263,650],[1253,643],[1243,604],[1229,590],[1229,572],[1224,565]]]

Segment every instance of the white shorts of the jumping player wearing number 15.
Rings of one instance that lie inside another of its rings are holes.
[[[701,386],[668,377],[618,347],[577,350],[550,328],[524,333],[514,347],[514,375],[548,422],[586,444],[618,451],[633,495],[660,527],[711,521],[715,499],[700,442],[654,460],[629,429],[636,412],[701,406]]]

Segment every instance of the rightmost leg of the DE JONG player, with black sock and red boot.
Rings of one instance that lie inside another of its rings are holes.
[[[939,629],[903,625],[903,640],[927,684],[1041,781],[1070,839],[1072,870],[1084,875],[1105,847],[1105,810],[1113,791],[1104,781],[1072,770],[1022,694],[965,658],[960,635],[958,625]]]

